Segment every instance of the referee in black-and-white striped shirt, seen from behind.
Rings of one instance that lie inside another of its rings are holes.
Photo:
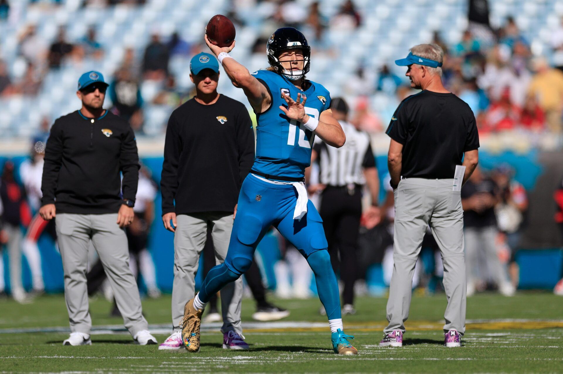
[[[311,164],[316,162],[319,165],[320,184],[310,186],[309,191],[322,191],[319,213],[323,218],[328,251],[334,273],[339,273],[344,283],[342,314],[354,314],[360,219],[368,228],[379,223],[379,178],[370,137],[347,122],[347,103],[342,98],[334,98],[330,109],[346,134],[346,143],[341,148],[324,142],[315,143]],[[362,218],[364,184],[368,186],[372,205]]]

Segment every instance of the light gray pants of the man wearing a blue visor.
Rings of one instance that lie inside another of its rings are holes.
[[[409,317],[414,265],[422,238],[430,225],[444,262],[444,288],[448,307],[444,332],[465,332],[466,274],[463,255],[461,193],[452,191],[453,179],[403,179],[394,191],[394,267],[387,301],[385,334],[405,331]]]

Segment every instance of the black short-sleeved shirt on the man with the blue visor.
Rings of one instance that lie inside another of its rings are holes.
[[[475,116],[453,93],[425,90],[405,98],[386,133],[403,145],[404,178],[453,178],[463,152],[479,148]]]

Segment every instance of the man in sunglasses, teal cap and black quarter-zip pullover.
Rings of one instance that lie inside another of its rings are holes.
[[[39,214],[45,220],[56,217],[71,331],[63,344],[92,344],[86,287],[90,241],[110,278],[125,327],[138,344],[156,344],[142,316],[124,230],[134,217],[137,143],[127,121],[104,110],[107,88],[101,73],[84,73],[77,91],[82,108],[55,121],[45,150]]]

